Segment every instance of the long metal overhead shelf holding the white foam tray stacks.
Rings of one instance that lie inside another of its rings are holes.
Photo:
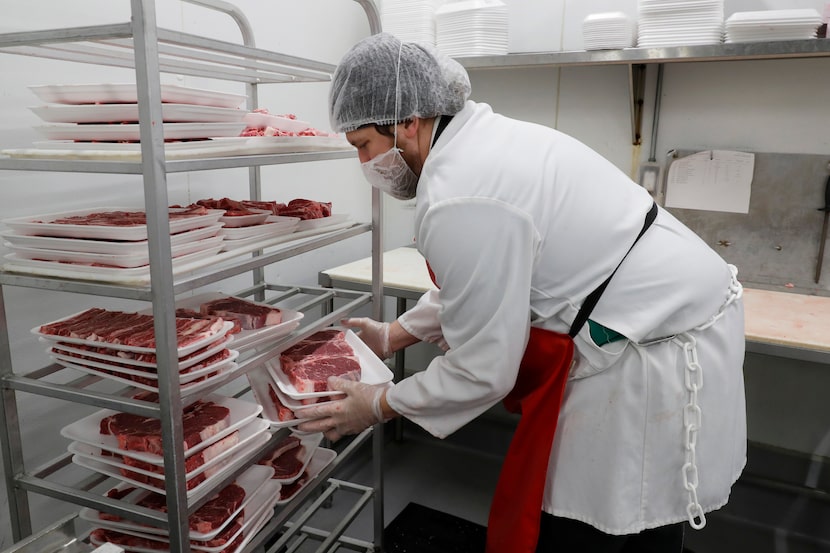
[[[814,57],[830,57],[830,40],[782,40],[666,48],[533,52],[503,56],[460,57],[456,60],[467,69],[511,69],[543,66],[635,65]]]

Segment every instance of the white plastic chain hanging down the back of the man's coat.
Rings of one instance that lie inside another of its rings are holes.
[[[743,286],[738,282],[738,270],[729,265],[732,273],[732,281],[729,285],[729,297],[718,310],[718,312],[707,322],[695,328],[696,331],[709,328],[723,317],[726,308],[743,296]],[[682,342],[683,353],[686,358],[684,371],[684,383],[689,392],[689,402],[683,407],[683,447],[686,450],[686,462],[683,464],[683,487],[689,493],[689,503],[686,505],[686,514],[689,516],[689,525],[695,530],[706,526],[706,514],[697,499],[697,487],[700,483],[697,473],[697,458],[695,447],[697,446],[697,435],[703,425],[703,417],[700,405],[697,402],[697,393],[703,388],[703,368],[697,359],[697,341],[694,336],[684,332],[677,336]]]

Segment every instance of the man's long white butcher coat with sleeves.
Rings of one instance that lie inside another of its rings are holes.
[[[399,319],[449,349],[390,390],[391,407],[445,437],[499,402],[516,380],[530,325],[567,333],[651,204],[573,138],[467,102],[418,184],[416,244],[440,292]],[[591,315],[630,341],[597,347],[588,325],[576,338],[545,511],[613,534],[687,518],[682,349],[678,339],[636,344],[681,333],[697,340],[705,374],[696,400],[698,501],[704,511],[726,502],[746,440],[743,307],[733,282],[722,258],[660,209]],[[707,330],[692,330],[719,312]]]

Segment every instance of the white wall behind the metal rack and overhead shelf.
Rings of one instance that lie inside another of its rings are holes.
[[[336,63],[348,47],[369,32],[360,7],[348,0],[273,2],[234,0],[250,18],[257,45],[289,54]],[[530,20],[542,35],[524,37],[524,44],[550,49],[581,49],[581,21],[600,11],[623,10],[636,15],[635,0],[507,0],[511,20],[528,10],[541,10]],[[158,4],[161,26],[238,40],[227,18],[173,0]],[[823,0],[726,0],[727,16],[738,10],[813,7]],[[523,11],[519,13],[516,10]],[[126,21],[126,0],[0,0],[0,32]],[[512,37],[514,44],[517,38]],[[652,68],[653,69],[653,68]],[[101,69],[0,54],[0,148],[25,147],[38,139],[32,127],[39,124],[27,106],[37,98],[31,84],[117,82],[131,79],[128,71]],[[653,77],[643,123],[642,149],[631,144],[628,74],[624,67],[567,69],[514,69],[474,71],[473,99],[491,103],[507,115],[534,120],[572,134],[633,173],[650,147]],[[241,91],[241,85],[203,79],[164,82],[201,88]],[[326,95],[321,85],[266,86],[260,104],[273,111],[292,111],[316,126],[328,128]],[[657,141],[658,156],[671,148],[747,148],[769,152],[828,153],[827,94],[830,59],[684,63],[666,67],[662,113]],[[659,157],[658,157],[659,159]],[[271,167],[264,171],[263,197],[290,199],[304,196],[328,199],[335,210],[368,220],[369,194],[356,160],[310,165]],[[186,202],[208,196],[247,194],[246,172],[225,170],[173,175],[171,201]],[[0,219],[34,213],[100,205],[141,205],[141,183],[135,177],[77,174],[0,172]],[[393,248],[412,241],[412,210],[406,202],[385,200],[386,244]],[[315,283],[320,269],[367,255],[368,238],[303,256],[298,263],[281,264],[269,274],[272,280]],[[235,285],[229,283],[228,286]],[[242,284],[244,285],[244,284]],[[231,290],[233,288],[230,288]],[[43,348],[29,329],[45,321],[89,306],[89,297],[36,290],[5,291],[16,370],[30,370],[47,362]],[[119,302],[112,302],[118,304]],[[127,302],[120,302],[127,303]],[[36,466],[65,448],[58,436],[65,421],[86,412],[78,406],[22,395],[20,402],[27,461]],[[36,418],[37,417],[37,418]],[[0,518],[5,494],[0,495]],[[36,527],[75,507],[35,497]],[[0,523],[0,548],[10,545],[7,523]]]

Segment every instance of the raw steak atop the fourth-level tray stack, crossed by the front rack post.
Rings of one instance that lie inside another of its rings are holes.
[[[228,427],[229,422],[230,409],[224,405],[202,400],[189,405],[182,413],[184,449],[190,449],[218,434]],[[159,419],[116,413],[101,419],[100,432],[116,436],[119,449],[164,454]]]

